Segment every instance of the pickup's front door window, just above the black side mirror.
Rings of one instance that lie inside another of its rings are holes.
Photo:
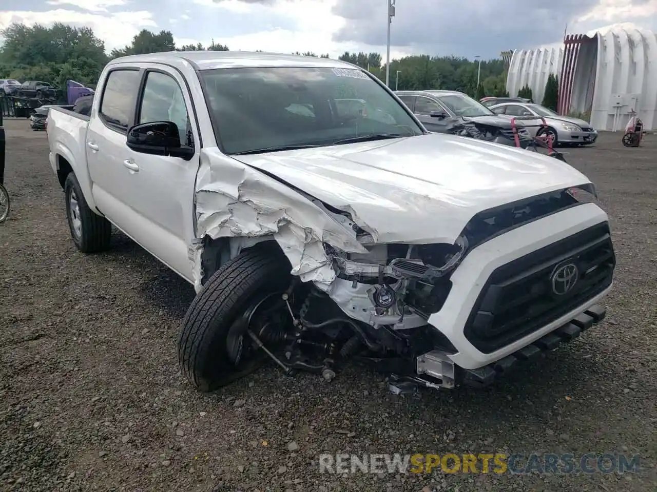
[[[180,143],[194,146],[183,92],[171,75],[162,72],[148,72],[139,109],[139,123],[155,121],[173,121],[180,133]]]

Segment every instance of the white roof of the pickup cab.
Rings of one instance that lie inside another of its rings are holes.
[[[133,54],[114,58],[110,64],[150,62],[179,64],[188,62],[194,70],[244,67],[333,67],[358,68],[350,63],[329,58],[248,51],[167,51],[160,53]]]

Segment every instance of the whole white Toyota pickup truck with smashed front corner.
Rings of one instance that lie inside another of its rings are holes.
[[[604,318],[616,258],[589,179],[430,134],[351,64],[117,58],[90,115],[51,108],[47,132],[79,251],[114,224],[194,285],[178,350],[200,390],[267,360],[484,385]]]

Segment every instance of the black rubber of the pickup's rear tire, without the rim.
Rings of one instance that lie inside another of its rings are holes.
[[[64,182],[64,205],[66,205],[66,219],[70,224],[70,209],[68,206],[69,189],[73,188],[78,195],[78,205],[80,209],[80,220],[82,221],[82,237],[76,241],[73,237],[76,247],[81,253],[100,253],[106,251],[110,247],[110,240],[112,238],[112,224],[109,220],[97,213],[94,213],[87,205],[82,190],[80,188],[78,178],[74,173],[68,173],[66,182]],[[73,236],[73,234],[71,234]]]

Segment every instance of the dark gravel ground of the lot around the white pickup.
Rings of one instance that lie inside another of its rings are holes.
[[[570,150],[612,217],[616,285],[606,322],[528,370],[486,390],[394,396],[382,376],[355,368],[327,383],[269,367],[206,395],[175,358],[193,289],[120,234],[110,253],[79,254],[45,134],[26,121],[5,127],[0,490],[657,490],[657,136],[625,149],[619,133],[603,134]],[[485,451],[639,454],[641,472],[338,476],[317,467],[319,453]]]

